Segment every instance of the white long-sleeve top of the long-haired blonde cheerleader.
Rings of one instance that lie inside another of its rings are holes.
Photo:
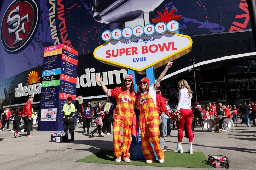
[[[179,104],[178,104],[177,110],[190,109],[191,99],[192,99],[192,95],[189,96],[188,89],[186,87],[179,90]]]

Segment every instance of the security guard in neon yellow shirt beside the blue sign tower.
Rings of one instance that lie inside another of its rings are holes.
[[[63,126],[64,126],[64,132],[68,132],[69,127],[69,133],[71,139],[69,141],[74,140],[74,124],[73,124],[73,116],[75,115],[75,105],[72,102],[72,97],[68,97],[68,103],[64,104],[62,112],[63,112]]]

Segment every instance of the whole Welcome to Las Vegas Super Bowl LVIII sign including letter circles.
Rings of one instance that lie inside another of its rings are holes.
[[[178,29],[179,23],[172,20],[167,24],[159,22],[112,32],[106,30],[102,39],[107,42],[94,50],[94,57],[106,64],[144,74],[150,66],[158,68],[191,51],[191,38],[176,33]]]

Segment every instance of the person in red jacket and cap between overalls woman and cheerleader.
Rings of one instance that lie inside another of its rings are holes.
[[[159,115],[159,131],[160,137],[159,140],[162,141],[162,150],[166,152],[167,150],[164,148],[164,127],[165,127],[165,114],[168,115],[169,112],[165,105],[165,98],[161,95],[161,91],[156,90],[156,106]]]

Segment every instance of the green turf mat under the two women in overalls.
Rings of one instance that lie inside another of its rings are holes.
[[[207,159],[202,152],[189,153],[175,153],[167,151],[164,153],[164,163],[153,162],[145,163],[146,160],[131,160],[130,163],[124,161],[115,162],[113,150],[101,150],[95,154],[86,156],[76,162],[87,163],[102,163],[102,164],[117,164],[117,165],[138,165],[138,166],[162,166],[162,167],[187,167],[187,168],[212,168],[208,165]]]

